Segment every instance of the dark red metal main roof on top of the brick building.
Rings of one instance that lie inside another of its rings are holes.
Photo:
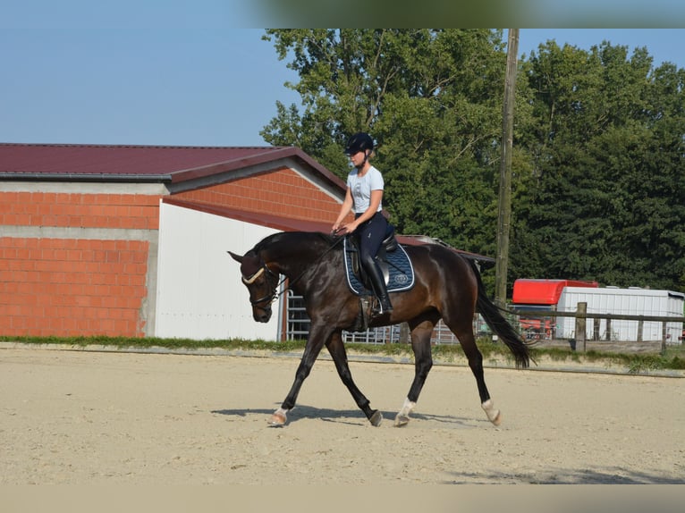
[[[164,147],[0,143],[0,180],[187,181],[283,158],[344,182],[296,147]]]

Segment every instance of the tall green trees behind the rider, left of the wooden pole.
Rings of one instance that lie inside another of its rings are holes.
[[[505,54],[487,29],[270,29],[303,112],[277,105],[267,142],[296,145],[341,178],[347,137],[378,143],[398,231],[495,254]]]

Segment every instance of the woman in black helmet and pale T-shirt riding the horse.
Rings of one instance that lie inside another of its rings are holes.
[[[347,192],[340,214],[333,224],[333,231],[336,235],[357,232],[359,261],[368,274],[378,298],[378,306],[374,307],[374,313],[384,315],[393,311],[393,305],[388,297],[383,273],[376,263],[376,253],[385,238],[388,225],[387,219],[381,213],[383,175],[368,161],[374,153],[374,140],[368,133],[359,132],[351,136],[347,141],[345,153],[350,157],[354,169],[347,176]],[[351,210],[354,211],[354,221],[341,226]]]

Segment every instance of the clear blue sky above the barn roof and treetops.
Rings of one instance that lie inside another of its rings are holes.
[[[20,4],[9,18],[0,8],[0,142],[261,146],[275,102],[298,103],[283,85],[298,77],[261,40],[264,29],[173,9],[131,19],[97,2],[30,19],[37,2]],[[646,46],[655,65],[685,67],[685,29],[520,29],[520,54],[548,39]]]

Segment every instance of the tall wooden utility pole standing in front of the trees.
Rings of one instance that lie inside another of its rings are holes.
[[[504,80],[502,122],[502,158],[500,162],[499,216],[497,219],[497,258],[495,261],[495,304],[506,305],[509,227],[512,222],[512,146],[513,112],[516,97],[516,65],[519,53],[519,29],[509,29],[507,69]]]

